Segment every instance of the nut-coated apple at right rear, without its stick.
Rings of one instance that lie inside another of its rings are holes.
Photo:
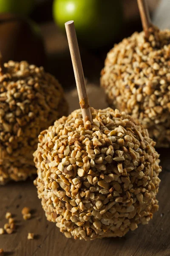
[[[113,108],[147,128],[157,147],[170,147],[170,30],[135,32],[108,52],[101,85]]]

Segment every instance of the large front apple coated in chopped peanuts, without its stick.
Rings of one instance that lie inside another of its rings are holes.
[[[147,130],[125,112],[93,114],[86,127],[81,110],[63,116],[34,152],[45,215],[67,238],[122,237],[158,209],[161,167]]]

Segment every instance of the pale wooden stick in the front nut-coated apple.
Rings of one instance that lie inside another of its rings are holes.
[[[74,27],[74,21],[68,21],[65,23],[65,29],[67,33],[68,45],[71,54],[71,60],[74,69],[74,76],[76,79],[77,91],[79,95],[79,104],[82,110],[83,122],[93,122],[88,96],[85,88],[85,77],[82,69],[82,61],[79,53],[79,46],[77,42],[76,30]]]

